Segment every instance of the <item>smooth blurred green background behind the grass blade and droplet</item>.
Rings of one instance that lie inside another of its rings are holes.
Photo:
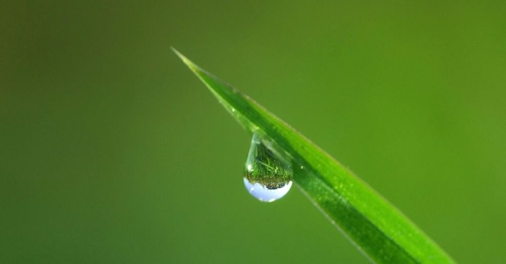
[[[462,263],[506,259],[506,4],[2,1],[0,262],[366,262],[170,51]]]

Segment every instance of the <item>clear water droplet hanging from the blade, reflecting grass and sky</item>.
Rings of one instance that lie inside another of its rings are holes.
[[[262,202],[273,202],[290,190],[292,171],[273,148],[272,141],[263,141],[253,134],[245,165],[244,186],[248,192]]]

